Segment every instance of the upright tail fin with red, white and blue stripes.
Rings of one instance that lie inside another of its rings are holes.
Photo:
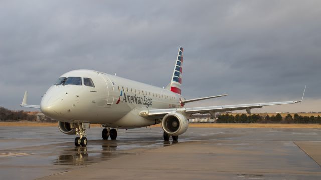
[[[171,83],[166,87],[167,89],[177,94],[181,94],[182,63],[183,63],[183,48],[180,47],[179,52],[177,54],[176,61],[175,61]]]

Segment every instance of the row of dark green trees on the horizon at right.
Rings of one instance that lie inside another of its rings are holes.
[[[269,115],[260,116],[256,114],[246,115],[246,114],[237,114],[235,116],[227,114],[221,114],[218,116],[217,123],[318,123],[321,124],[321,117],[318,115],[315,116],[301,116],[297,113],[292,116],[287,114],[285,117],[282,117],[281,114],[276,114],[275,116]]]

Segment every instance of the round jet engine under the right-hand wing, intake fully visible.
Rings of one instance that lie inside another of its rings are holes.
[[[168,135],[181,135],[188,127],[189,121],[183,114],[173,112],[163,117],[162,128]]]

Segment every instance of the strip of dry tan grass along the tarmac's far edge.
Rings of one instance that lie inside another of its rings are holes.
[[[90,124],[100,127],[100,124]],[[38,122],[0,122],[0,127],[57,127],[57,123]],[[161,124],[151,127],[161,127]],[[199,128],[321,128],[320,124],[221,124],[221,123],[190,123],[189,127]]]

